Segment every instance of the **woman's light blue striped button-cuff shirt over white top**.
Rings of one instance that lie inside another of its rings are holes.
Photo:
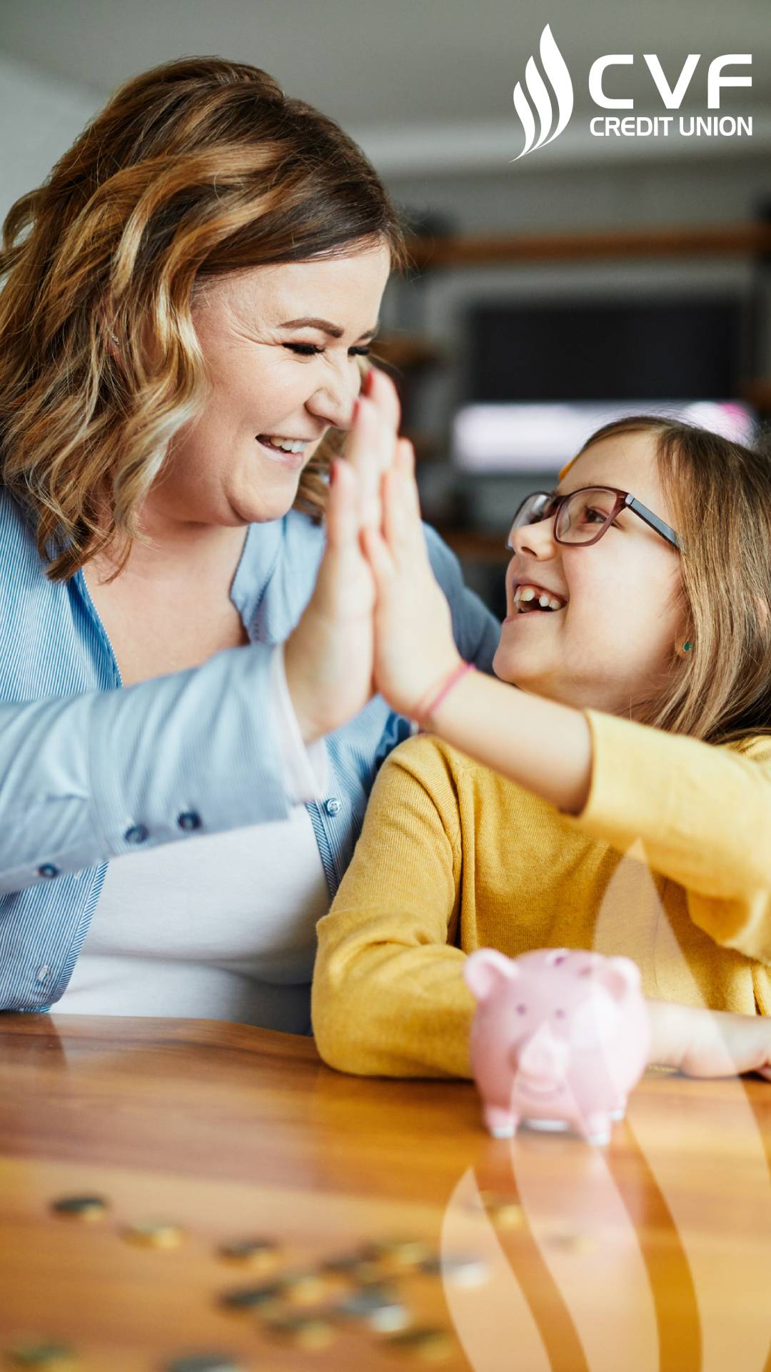
[[[461,654],[488,670],[499,626],[427,528]],[[250,524],[230,598],[250,645],[122,687],[82,572],[51,582],[0,488],[0,1008],[64,992],[110,858],[285,819],[268,671],[313,586],[322,528],[291,510]],[[333,789],[307,807],[335,893],[383,757],[409,733],[381,697],[327,738]]]

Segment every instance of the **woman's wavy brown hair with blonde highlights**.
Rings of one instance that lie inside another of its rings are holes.
[[[169,442],[206,403],[192,322],[206,281],[380,244],[407,263],[375,169],[268,73],[182,58],[119,86],[3,226],[0,482],[51,579],[115,536],[122,567],[141,538]],[[342,436],[327,434],[300,479],[295,505],[316,519]]]

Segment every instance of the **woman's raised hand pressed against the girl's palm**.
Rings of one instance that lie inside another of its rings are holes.
[[[287,685],[306,744],[353,719],[373,694],[375,578],[361,534],[380,524],[380,483],[396,453],[399,401],[372,370],[332,468],[327,549],[314,593],[284,645]]]

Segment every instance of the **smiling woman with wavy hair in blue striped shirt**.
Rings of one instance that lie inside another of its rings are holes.
[[[307,1028],[316,919],[406,727],[358,547],[381,373],[355,536],[321,524],[403,261],[355,144],[218,58],[128,82],[10,211],[0,1007]],[[484,667],[494,622],[427,539]]]

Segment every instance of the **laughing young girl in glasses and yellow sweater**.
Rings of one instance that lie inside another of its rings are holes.
[[[498,681],[453,645],[403,440],[362,543],[376,685],[424,733],[318,925],[322,1058],[468,1076],[466,954],[571,947],[638,963],[652,1061],[771,1076],[770,457],[664,418],[594,434],[514,517]]]

